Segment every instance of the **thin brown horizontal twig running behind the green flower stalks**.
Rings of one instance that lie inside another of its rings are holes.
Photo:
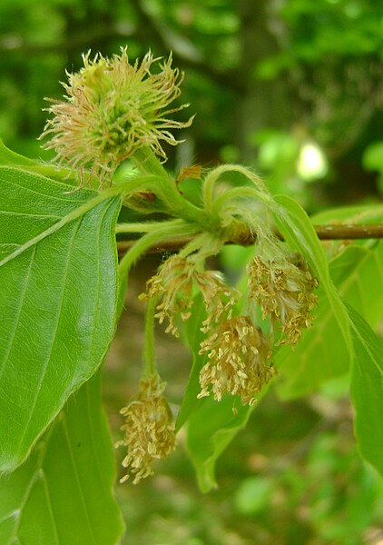
[[[383,223],[378,224],[329,224],[329,225],[314,225],[314,229],[321,241],[336,241],[336,240],[356,240],[356,239],[381,239],[383,238]],[[283,240],[280,233],[277,235]],[[155,244],[148,253],[175,252],[191,242],[192,237],[177,238],[174,241],[167,243]],[[118,253],[121,255],[127,252],[133,245],[134,241],[120,241],[118,243]],[[240,244],[241,246],[250,246],[255,243],[254,236],[251,233],[241,233],[241,237],[236,240],[229,241],[231,244]]]

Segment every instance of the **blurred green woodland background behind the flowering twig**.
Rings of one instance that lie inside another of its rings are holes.
[[[169,168],[242,162],[274,193],[315,213],[383,195],[383,3],[377,0],[1,0],[0,137],[48,160],[44,96],[60,98],[91,49],[148,49],[185,71],[196,113]],[[139,380],[142,303],[161,257],[133,272],[127,312],[104,373],[113,435]],[[190,369],[158,332],[176,410]],[[182,434],[181,434],[182,435]],[[180,438],[182,445],[182,436]],[[120,454],[120,453],[119,453]],[[383,455],[383,453],[382,453]],[[383,485],[358,458],[346,381],[299,401],[272,393],[218,466],[220,489],[199,492],[182,449],[152,480],[117,486],[123,545],[382,545]],[[85,544],[84,544],[85,545]]]

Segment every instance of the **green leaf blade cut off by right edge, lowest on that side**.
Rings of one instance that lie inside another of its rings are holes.
[[[383,477],[383,339],[352,307],[349,315],[355,345],[351,399],[358,449]]]

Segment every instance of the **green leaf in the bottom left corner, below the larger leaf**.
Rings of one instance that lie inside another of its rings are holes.
[[[114,477],[97,373],[29,459],[0,478],[0,545],[114,545],[123,532]]]

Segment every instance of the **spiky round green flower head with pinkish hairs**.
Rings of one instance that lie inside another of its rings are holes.
[[[45,149],[54,149],[57,161],[70,166],[83,182],[86,169],[89,180],[98,179],[99,185],[110,184],[117,166],[142,147],[163,161],[167,157],[162,142],[176,145],[171,129],[191,125],[168,116],[188,106],[169,109],[181,94],[183,74],[172,68],[172,54],[154,74],[152,65],[160,61],[152,53],[146,54],[141,64],[129,62],[127,48],[112,58],[90,51],[83,54],[83,68],[67,73],[68,84],[63,84],[64,101],[46,99],[53,118],[44,127],[50,141]]]

